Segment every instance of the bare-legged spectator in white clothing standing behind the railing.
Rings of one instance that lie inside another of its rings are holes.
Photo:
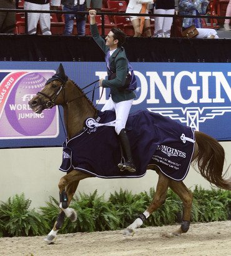
[[[152,4],[153,0],[130,0],[129,4],[127,5],[126,13],[141,13],[142,6],[144,4]],[[147,6],[145,13],[149,13],[149,8]],[[140,16],[130,16],[130,21],[132,22],[135,34],[134,37],[140,37],[141,31],[140,31]],[[142,29],[141,29],[142,30]],[[147,37],[152,36],[151,29],[150,29],[150,17],[145,16],[144,19],[144,34]]]

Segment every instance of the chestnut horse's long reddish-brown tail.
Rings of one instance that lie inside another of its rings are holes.
[[[199,153],[195,158],[194,168],[197,165],[200,174],[208,182],[219,188],[231,190],[231,177],[225,180],[229,168],[222,175],[225,161],[224,148],[217,140],[201,131],[195,131],[195,141],[199,146]]]

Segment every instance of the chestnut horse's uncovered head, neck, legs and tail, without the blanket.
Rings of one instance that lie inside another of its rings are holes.
[[[71,79],[67,78],[64,73],[62,64],[60,64],[57,72],[51,79],[49,79],[39,93],[37,93],[31,101],[29,106],[36,113],[42,113],[46,108],[61,105],[64,108],[64,123],[66,126],[67,140],[73,138],[79,131],[82,131],[85,126],[87,118],[94,118],[99,112],[92,104],[84,91],[82,91],[77,84]],[[210,183],[225,190],[231,190],[231,178],[225,180],[222,175],[225,160],[224,148],[214,138],[195,131],[195,148],[192,161],[197,163],[197,168],[200,174]],[[134,235],[135,228],[138,228],[144,223],[145,219],[149,217],[157,208],[165,202],[165,196],[168,188],[171,188],[184,203],[184,216],[181,226],[173,232],[174,235],[181,235],[189,230],[190,212],[192,208],[193,195],[190,190],[185,187],[182,181],[177,182],[160,172],[157,166],[148,166],[148,169],[155,170],[159,175],[156,192],[149,208],[141,213],[135,221],[125,228],[124,235]],[[119,170],[119,169],[118,169]],[[54,227],[45,238],[48,243],[53,243],[57,238],[57,232],[61,229],[64,217],[67,215],[72,222],[76,221],[77,213],[74,209],[69,208],[74,193],[80,180],[92,177],[89,173],[81,172],[72,169],[59,182],[60,195],[60,210]]]

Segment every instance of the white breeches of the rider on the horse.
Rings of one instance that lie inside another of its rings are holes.
[[[115,132],[117,133],[117,135],[119,135],[120,131],[125,128],[132,103],[133,103],[133,99],[115,103],[112,100],[112,98],[109,97],[109,100],[101,110],[101,111],[106,111],[106,110],[115,111],[115,118],[116,118]]]

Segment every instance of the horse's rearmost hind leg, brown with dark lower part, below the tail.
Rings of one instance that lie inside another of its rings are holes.
[[[181,226],[178,230],[172,232],[173,235],[179,236],[189,230],[192,200],[194,196],[192,192],[190,192],[190,190],[184,185],[183,182],[174,182],[174,180],[170,180],[169,187],[172,189],[173,192],[179,195],[180,199],[184,204],[184,215]]]

